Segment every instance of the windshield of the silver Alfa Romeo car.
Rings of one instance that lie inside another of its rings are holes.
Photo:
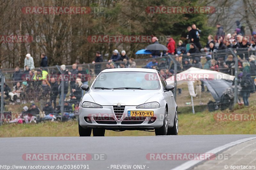
[[[100,73],[92,85],[93,89],[141,89],[158,90],[160,84],[156,73],[147,72],[107,72]]]

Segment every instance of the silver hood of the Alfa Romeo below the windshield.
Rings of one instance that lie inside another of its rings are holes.
[[[100,105],[113,105],[121,103],[137,106],[145,103],[152,96],[158,95],[159,90],[119,89],[119,90],[90,90],[89,95],[95,103]]]

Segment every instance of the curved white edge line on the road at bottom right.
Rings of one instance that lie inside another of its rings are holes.
[[[249,141],[249,140],[252,140],[252,139],[256,139],[256,137],[251,137],[251,138],[244,138],[244,139],[241,139],[241,140],[237,140],[237,141],[234,141],[234,142],[230,142],[226,145],[223,145],[223,146],[220,146],[220,147],[217,147],[217,148],[214,148],[212,149],[211,151],[208,151],[208,152],[205,152],[205,153],[212,153],[212,154],[216,154],[216,153],[219,153],[223,150],[226,150],[228,149],[229,147],[232,147],[232,146],[235,146],[235,145],[238,145],[240,143],[243,143],[243,142],[246,142],[246,141]],[[212,156],[212,155],[210,155]],[[210,157],[209,156],[209,157]],[[209,157],[205,157],[206,160],[209,159]],[[186,170],[188,168],[191,168],[192,166],[195,166],[197,164],[199,164],[200,162],[202,162],[204,160],[189,160],[183,164],[181,164],[180,166],[176,166],[175,168],[172,168],[171,170]]]

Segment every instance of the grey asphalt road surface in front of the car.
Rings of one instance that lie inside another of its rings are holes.
[[[148,153],[205,153],[230,142],[250,137],[256,137],[256,135],[0,138],[0,169],[4,169],[1,165],[11,167],[12,165],[89,165],[90,170],[108,170],[125,169],[119,166],[114,168],[114,165],[131,165],[130,169],[134,169],[134,165],[142,165],[142,168],[145,165],[146,170],[170,170],[187,160],[148,160],[146,155]],[[106,160],[26,160],[22,157],[26,153],[101,153],[105,154],[103,156]],[[34,169],[37,168],[34,167]],[[66,169],[71,168],[66,167]]]

